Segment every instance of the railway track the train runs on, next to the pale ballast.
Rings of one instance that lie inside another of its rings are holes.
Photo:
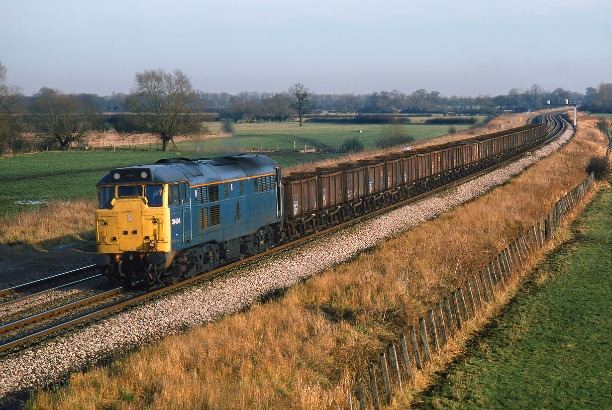
[[[543,141],[539,146],[534,147],[534,149],[537,149],[541,146],[544,146],[545,144],[550,143],[551,140],[554,140],[555,138],[557,138],[559,135],[561,135],[566,127],[567,127],[567,123],[564,122],[561,118],[560,114],[542,114],[542,116],[540,116],[539,119],[540,122],[547,122],[549,124],[549,132],[548,132],[548,138]],[[524,154],[523,154],[524,155]],[[520,156],[519,156],[520,157]],[[176,283],[175,285],[170,285],[170,286],[165,286],[163,288],[159,288],[159,289],[154,289],[152,291],[149,291],[147,293],[139,293],[139,294],[132,294],[131,296],[127,296],[124,298],[119,298],[118,300],[105,305],[102,308],[89,308],[89,310],[86,311],[86,313],[83,313],[83,315],[76,315],[75,316],[71,316],[70,318],[67,319],[62,319],[61,321],[59,321],[59,323],[53,322],[52,324],[49,324],[48,326],[42,326],[42,329],[35,329],[31,332],[28,332],[27,334],[24,335],[19,335],[19,337],[14,337],[12,338],[12,340],[10,341],[6,341],[6,342],[0,342],[3,343],[2,345],[0,345],[0,351],[6,351],[7,349],[12,349],[15,348],[17,346],[23,345],[24,343],[28,342],[28,341],[34,341],[37,340],[40,337],[43,337],[45,335],[50,335],[53,334],[54,332],[57,332],[58,330],[61,329],[65,329],[66,327],[72,326],[74,324],[78,324],[80,322],[84,322],[84,321],[88,321],[89,319],[98,317],[98,316],[102,316],[105,315],[106,313],[110,313],[111,311],[114,310],[118,310],[124,307],[128,307],[130,305],[136,304],[137,302],[141,302],[144,299],[147,299],[149,297],[152,296],[156,296],[159,295],[161,293],[165,293],[170,291],[171,289],[175,289],[178,288],[180,286],[185,286],[189,283],[192,283],[193,281],[196,280],[201,280],[203,278],[207,278],[207,277],[212,277],[214,275],[218,275],[220,274],[220,272],[227,270],[227,269],[231,269],[232,267],[235,267],[239,264],[243,264],[243,263],[248,263],[249,261],[253,261],[254,259],[258,259],[261,258],[263,256],[269,255],[272,252],[276,252],[277,250],[281,250],[283,248],[287,248],[287,247],[293,247],[297,244],[300,244],[300,242],[304,242],[305,240],[310,240],[313,239],[313,237],[318,236],[318,235],[322,235],[322,234],[326,234],[329,233],[330,231],[335,231],[337,229],[341,229],[345,226],[348,225],[353,225],[354,223],[359,222],[360,220],[364,220],[366,218],[371,218],[375,215],[381,214],[383,212],[387,212],[390,209],[394,209],[400,206],[403,206],[406,203],[409,203],[411,201],[415,201],[416,199],[420,199],[420,198],[424,198],[425,196],[431,195],[432,193],[435,192],[439,192],[441,190],[446,190],[449,187],[452,187],[453,185],[458,185],[458,184],[462,184],[463,182],[466,182],[470,179],[474,179],[477,176],[480,176],[482,174],[488,173],[491,170],[495,169],[495,168],[499,168],[501,166],[506,165],[507,163],[513,162],[515,160],[517,160],[517,158],[519,157],[514,157],[514,158],[510,158],[509,160],[506,160],[502,163],[499,163],[495,166],[492,166],[490,168],[487,168],[485,170],[479,171],[478,173],[475,174],[471,174],[470,176],[466,176],[463,177],[462,179],[459,179],[458,181],[454,181],[451,184],[447,184],[444,185],[442,187],[438,187],[435,188],[429,192],[426,193],[422,193],[420,195],[414,196],[412,198],[407,199],[406,201],[394,204],[393,206],[387,207],[385,209],[380,209],[378,211],[372,212],[371,214],[368,215],[363,215],[362,217],[356,218],[355,220],[351,220],[349,222],[345,222],[345,223],[341,223],[339,225],[335,225],[332,228],[328,228],[328,229],[324,229],[323,231],[320,231],[317,234],[313,234],[310,236],[306,236],[303,237],[301,239],[297,239],[294,240],[293,242],[289,242],[288,244],[283,244],[280,245],[278,247],[272,248],[271,250],[268,250],[267,252],[263,252],[263,253],[259,253],[258,255],[254,255],[251,256],[250,258],[245,258],[242,261],[237,261],[235,263],[231,263],[228,264],[226,266],[220,267],[218,269],[212,270],[211,272],[207,272],[206,274],[201,274],[198,275],[194,278],[190,278],[184,281],[181,281],[179,283]],[[68,272],[65,272],[68,273]],[[53,277],[50,277],[53,278]],[[50,279],[50,278],[45,278],[45,279]],[[20,285],[20,286],[25,286],[28,284],[24,284],[24,285]],[[15,288],[18,288],[17,286]],[[13,288],[11,288],[13,289]],[[5,289],[8,290],[8,289]],[[77,302],[71,303],[71,304],[67,304],[64,305],[62,307],[58,307],[56,309],[51,309],[49,311],[45,311],[42,312],[42,315],[32,315],[31,317],[28,318],[23,318],[20,321],[16,321],[16,322],[12,322],[6,325],[2,325],[0,326],[0,337],[2,334],[10,334],[10,332],[15,332],[18,329],[23,329],[24,326],[29,326],[29,324],[32,323],[38,323],[40,320],[45,320],[48,318],[55,318],[57,315],[64,315],[70,312],[74,312],[74,309],[80,309],[83,308],[83,306],[90,306],[91,304],[89,303],[91,301],[91,303],[99,303],[100,300],[108,300],[108,298],[112,298],[112,297],[116,297],[119,294],[121,294],[122,292],[122,288],[116,288],[116,289],[110,289],[110,291],[105,292],[105,293],[100,293],[97,295],[94,295],[90,298],[86,298],[83,300],[78,300]],[[10,293],[10,292],[9,292]],[[1,294],[1,293],[0,293]]]

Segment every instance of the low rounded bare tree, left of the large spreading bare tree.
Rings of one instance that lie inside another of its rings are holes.
[[[95,108],[73,94],[41,88],[29,106],[34,116],[35,135],[48,146],[61,149],[83,142],[92,130]]]

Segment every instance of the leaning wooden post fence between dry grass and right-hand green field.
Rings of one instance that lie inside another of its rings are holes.
[[[608,154],[609,156],[609,154]],[[467,321],[476,318],[499,299],[509,286],[514,285],[526,273],[529,260],[539,255],[554,239],[554,233],[570,212],[580,204],[595,182],[589,174],[583,182],[567,193],[554,205],[542,222],[527,229],[514,242],[504,248],[493,261],[483,266],[477,274],[465,281],[427,311],[427,318],[409,326],[408,337],[401,334],[398,348],[395,343],[379,354],[376,362],[368,367],[369,377],[357,376],[354,392],[349,395],[351,410],[379,410],[392,400],[394,393],[414,384],[416,372],[424,371],[435,354],[441,354],[450,341],[460,335]]]

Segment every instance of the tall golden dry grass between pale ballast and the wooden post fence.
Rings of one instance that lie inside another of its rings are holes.
[[[39,392],[29,408],[346,409],[356,375],[367,374],[384,346],[397,345],[398,335],[432,302],[542,220],[584,179],[587,158],[606,144],[594,120],[585,119],[561,151],[490,195],[316,275],[278,300],[73,375],[57,392]],[[451,343],[430,371],[453,349],[460,345]],[[417,387],[426,382],[421,377]]]

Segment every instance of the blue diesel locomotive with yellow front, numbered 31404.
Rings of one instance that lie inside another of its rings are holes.
[[[97,193],[95,262],[124,282],[172,283],[266,250],[282,235],[280,167],[266,155],[117,168]]]

